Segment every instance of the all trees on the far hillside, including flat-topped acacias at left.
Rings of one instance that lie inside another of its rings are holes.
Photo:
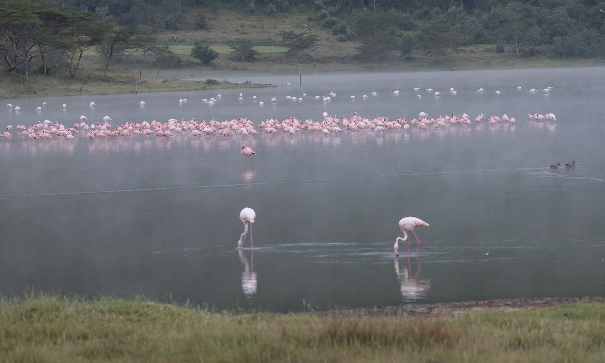
[[[157,67],[178,67],[180,58],[157,33],[185,26],[190,9],[197,11],[194,27],[207,29],[206,14],[221,6],[217,0],[2,0],[0,56],[5,73],[26,78],[57,68],[74,77],[89,48],[102,55],[105,72],[126,51],[140,52],[143,62]],[[476,44],[521,57],[605,53],[605,2],[595,0],[231,0],[228,6],[266,16],[312,14],[310,21],[338,41],[355,41],[358,58],[368,62],[405,59],[414,51],[451,61],[460,47]],[[317,40],[307,33],[278,36],[296,65],[309,58]],[[254,60],[255,45],[234,41],[232,59]],[[205,64],[218,56],[204,44],[191,54]]]

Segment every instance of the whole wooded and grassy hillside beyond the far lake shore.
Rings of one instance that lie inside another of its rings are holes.
[[[381,1],[376,10],[366,2],[56,0],[53,4],[69,7],[48,8],[44,0],[6,0],[0,10],[19,10],[2,18],[7,29],[4,44],[14,47],[0,48],[5,60],[0,97],[240,87],[177,80],[223,79],[233,71],[603,64],[605,42],[600,34],[605,16],[597,3],[467,0],[460,11],[457,2],[437,0],[396,2],[390,8]],[[41,31],[32,31],[36,28]],[[293,58],[291,49],[282,46],[284,32],[312,36],[313,44]],[[190,55],[196,42],[217,52],[208,64]],[[238,60],[230,54],[238,42],[258,53],[245,62]]]

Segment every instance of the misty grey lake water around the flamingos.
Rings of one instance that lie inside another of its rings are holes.
[[[409,122],[424,111],[467,113],[473,124],[329,136],[90,140],[80,132],[71,142],[13,129],[0,138],[0,293],[143,295],[276,312],[603,295],[604,76],[605,68],[336,74],[303,76],[302,86],[298,74],[232,76],[278,87],[5,100],[22,110],[2,104],[2,131],[45,119],[71,126],[82,114],[120,125],[321,120],[324,111]],[[330,92],[338,94],[331,102],[315,99]],[[218,93],[217,104],[200,102]],[[302,93],[302,102],[284,99]],[[480,113],[517,122],[476,123]],[[526,119],[534,113],[557,120]],[[253,164],[240,154],[244,144],[257,152]],[[572,160],[577,167],[549,168]],[[247,241],[240,251],[246,206],[257,214],[254,247]],[[404,244],[396,259],[397,221],[408,215],[431,225],[416,229],[417,255],[414,242],[409,258]]]

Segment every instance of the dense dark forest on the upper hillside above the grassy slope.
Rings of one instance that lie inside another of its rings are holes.
[[[443,56],[443,51],[435,51],[435,42],[450,44],[445,56],[459,45],[473,44],[525,57],[605,53],[605,2],[598,0],[230,0],[227,5],[217,0],[53,1],[101,13],[118,25],[165,30],[185,26],[185,13],[191,9],[198,11],[197,29],[208,28],[208,14],[221,6],[267,16],[311,12],[339,41],[361,43],[359,56],[365,60],[376,58],[373,51],[379,50],[388,50],[387,56],[394,50],[403,57],[413,50]],[[446,39],[436,39],[436,30]]]

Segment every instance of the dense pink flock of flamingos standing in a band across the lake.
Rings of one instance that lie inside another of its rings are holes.
[[[143,102],[143,101],[141,101]],[[92,105],[92,103],[91,103]],[[9,103],[8,108],[12,105]],[[15,107],[17,110],[18,107]],[[259,132],[266,134],[275,134],[278,132],[288,132],[295,134],[298,131],[310,131],[310,132],[321,132],[324,135],[330,135],[337,132],[342,132],[343,129],[348,131],[362,131],[364,129],[370,129],[376,132],[382,132],[387,129],[408,129],[410,125],[416,126],[419,129],[428,129],[429,127],[443,128],[450,125],[470,125],[471,117],[468,114],[462,114],[462,116],[456,116],[454,113],[451,116],[439,115],[436,118],[430,117],[429,114],[421,112],[418,115],[418,119],[414,117],[408,123],[405,117],[397,117],[395,120],[388,120],[388,117],[376,116],[376,117],[362,117],[358,116],[357,113],[353,113],[351,117],[337,117],[328,116],[324,112],[321,121],[314,121],[312,119],[306,119],[304,121],[296,119],[296,117],[289,117],[281,122],[277,119],[267,119],[261,121],[258,125],[252,120],[247,118],[239,118],[232,120],[225,120],[219,122],[215,119],[211,119],[209,122],[202,120],[197,122],[195,118],[191,120],[185,120],[181,118],[180,121],[177,119],[169,119],[166,122],[158,122],[156,120],[142,121],[142,122],[124,122],[120,125],[113,126],[110,121],[111,117],[103,117],[103,122],[91,123],[88,125],[87,117],[82,115],[79,117],[79,122],[75,122],[73,126],[65,126],[58,121],[51,122],[50,120],[38,121],[30,126],[24,124],[17,124],[15,128],[20,131],[19,134],[28,140],[35,139],[53,139],[53,137],[63,138],[65,140],[76,140],[76,135],[80,131],[86,132],[89,139],[106,139],[113,137],[128,137],[128,136],[157,136],[157,137],[171,137],[175,133],[187,132],[192,137],[199,136],[212,136],[218,134],[220,136],[232,136],[234,134],[242,137],[249,135],[258,135]],[[529,120],[557,120],[554,114],[528,114],[527,119]],[[481,123],[486,120],[484,114],[479,114],[474,118],[477,123]],[[493,115],[487,118],[489,125],[497,125],[500,122],[515,123],[514,117],[508,117],[506,114],[502,116]],[[257,128],[260,131],[257,131]],[[0,134],[0,137],[11,137],[10,131],[13,129],[12,125],[7,126],[7,132]],[[252,151],[253,152],[253,151]],[[253,155],[252,152],[247,151],[242,154],[250,157]]]

